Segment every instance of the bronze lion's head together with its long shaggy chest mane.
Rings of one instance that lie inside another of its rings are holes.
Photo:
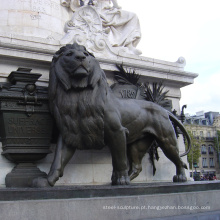
[[[75,67],[73,69],[73,67]],[[49,103],[67,146],[102,149],[106,77],[85,47],[62,47],[53,57],[49,80]]]

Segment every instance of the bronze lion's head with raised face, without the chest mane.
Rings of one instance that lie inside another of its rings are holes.
[[[71,88],[94,87],[101,78],[98,61],[84,46],[66,45],[60,48],[52,60],[52,73],[67,91]]]

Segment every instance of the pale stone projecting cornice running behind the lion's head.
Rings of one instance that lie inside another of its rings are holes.
[[[0,56],[10,57],[12,59],[25,59],[29,61],[39,62],[41,64],[50,65],[53,54],[59,49],[60,46],[55,44],[42,44],[42,42],[36,42],[32,46],[24,41],[9,41],[6,38],[0,38]],[[24,43],[21,44],[21,43]],[[33,43],[33,42],[32,42]],[[135,69],[136,73],[142,77],[147,77],[149,81],[163,80],[168,84],[176,84],[177,87],[192,84],[194,78],[198,74],[184,71],[185,63],[167,62],[158,59],[152,59],[142,56],[120,56],[103,58],[97,56],[102,69],[105,71],[117,70],[115,64],[123,64],[125,68]]]

